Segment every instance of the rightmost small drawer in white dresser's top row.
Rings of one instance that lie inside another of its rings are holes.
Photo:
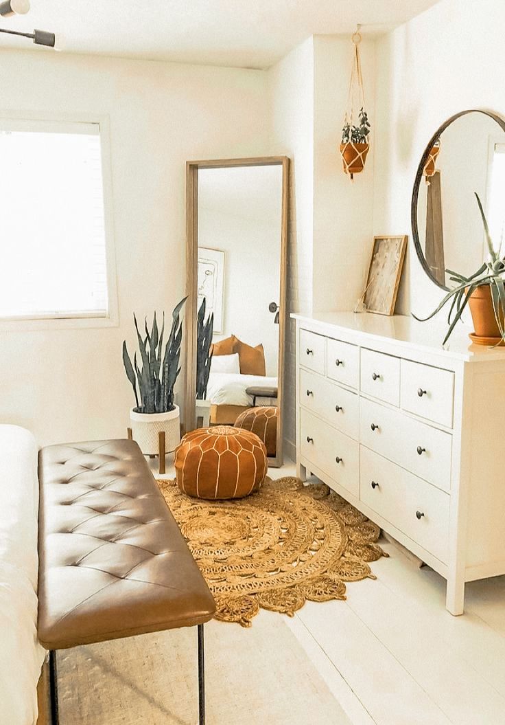
[[[428,421],[452,427],[454,373],[402,360],[400,404]]]

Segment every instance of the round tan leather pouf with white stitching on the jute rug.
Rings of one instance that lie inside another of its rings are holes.
[[[179,489],[203,499],[233,499],[258,491],[267,470],[266,447],[232,426],[197,428],[175,450]]]

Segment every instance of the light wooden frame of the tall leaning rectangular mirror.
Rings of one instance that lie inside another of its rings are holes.
[[[277,421],[276,456],[268,458],[268,465],[279,468],[283,462],[283,426],[282,404],[284,399],[284,344],[286,339],[286,273],[287,273],[287,233],[289,220],[289,157],[265,156],[245,159],[214,159],[210,161],[188,161],[186,163],[186,310],[185,350],[186,350],[186,387],[184,394],[184,431],[195,428],[196,394],[196,319],[198,299],[198,170],[218,169],[242,166],[281,166],[282,167],[282,204],[279,279],[279,357],[277,368]]]

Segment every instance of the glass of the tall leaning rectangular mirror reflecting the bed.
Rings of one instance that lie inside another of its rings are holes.
[[[279,158],[255,160],[199,162],[195,175],[195,310],[205,299],[205,318],[213,315],[211,368],[195,425],[240,425],[266,408],[279,428],[266,442],[268,456],[280,460],[286,170]]]

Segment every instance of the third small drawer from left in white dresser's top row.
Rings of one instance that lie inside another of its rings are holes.
[[[400,359],[383,352],[361,349],[360,388],[363,393],[391,405],[400,404]]]

